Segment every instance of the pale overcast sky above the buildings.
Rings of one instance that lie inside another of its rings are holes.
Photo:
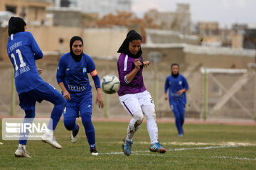
[[[151,8],[158,11],[176,11],[177,3],[190,4],[191,20],[218,22],[220,28],[233,23],[246,23],[256,28],[256,0],[132,0],[132,11],[139,18]]]

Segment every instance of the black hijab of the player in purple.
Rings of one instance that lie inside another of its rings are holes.
[[[140,57],[142,55],[142,47],[139,49],[136,55],[133,55],[131,52],[129,52],[129,42],[132,40],[142,40],[142,36],[139,35],[139,33],[137,33],[135,30],[130,30],[129,33],[127,33],[127,38],[125,38],[124,42],[122,42],[122,45],[119,47],[117,52],[129,55],[129,57]]]

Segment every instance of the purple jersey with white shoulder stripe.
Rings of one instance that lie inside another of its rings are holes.
[[[142,56],[138,58],[141,62]],[[125,94],[137,94],[143,91],[146,91],[146,87],[144,86],[143,77],[142,77],[142,69],[139,69],[139,72],[135,75],[132,81],[127,81],[126,75],[132,72],[135,68],[134,65],[135,58],[129,57],[128,55],[122,53],[119,56],[117,61],[117,69],[119,74],[120,81],[120,89],[117,91],[118,96],[123,96]]]

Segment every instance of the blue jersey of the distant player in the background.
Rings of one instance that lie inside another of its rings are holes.
[[[181,95],[178,91],[181,89],[188,90],[188,82],[183,75],[178,74],[178,77],[174,78],[172,75],[166,78],[166,83],[164,86],[164,93],[169,89],[169,101],[170,104],[186,104],[186,93],[183,92]]]

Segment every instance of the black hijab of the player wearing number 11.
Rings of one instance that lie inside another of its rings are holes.
[[[8,25],[8,34],[10,36],[11,34],[25,31],[24,26],[26,26],[26,23],[22,18],[12,16]]]

